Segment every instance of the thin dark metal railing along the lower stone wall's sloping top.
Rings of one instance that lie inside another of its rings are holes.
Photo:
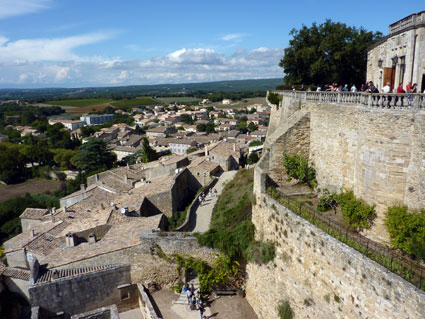
[[[313,207],[297,201],[296,196],[285,195],[273,187],[267,188],[266,193],[294,214],[308,220],[332,237],[356,249],[391,272],[409,281],[417,288],[425,291],[425,267],[419,262],[357,232],[351,231],[347,226],[319,213]]]

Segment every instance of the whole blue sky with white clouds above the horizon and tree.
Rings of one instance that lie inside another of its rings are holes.
[[[292,28],[330,18],[387,34],[422,10],[423,0],[0,0],[0,88],[281,77]]]

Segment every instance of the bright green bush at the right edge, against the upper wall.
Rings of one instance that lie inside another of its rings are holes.
[[[424,209],[409,211],[407,206],[389,207],[385,224],[393,247],[425,259]]]

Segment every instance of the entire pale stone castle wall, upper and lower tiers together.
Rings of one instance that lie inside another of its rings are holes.
[[[308,150],[319,188],[353,188],[375,204],[380,224],[367,235],[386,239],[387,205],[425,206],[425,114],[285,98],[281,108],[291,104],[273,110],[279,124],[255,168],[252,221],[257,239],[276,244],[276,258],[248,264],[249,303],[259,319],[278,318],[281,300],[290,302],[295,318],[424,318],[423,291],[293,214],[265,188],[267,173],[281,165],[279,154]]]

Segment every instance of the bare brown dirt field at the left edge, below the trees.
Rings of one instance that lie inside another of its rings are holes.
[[[60,189],[61,182],[34,179],[24,183],[13,185],[0,184],[0,202],[11,199],[16,196],[24,195],[25,193],[36,194],[45,193],[47,191],[54,192]]]

